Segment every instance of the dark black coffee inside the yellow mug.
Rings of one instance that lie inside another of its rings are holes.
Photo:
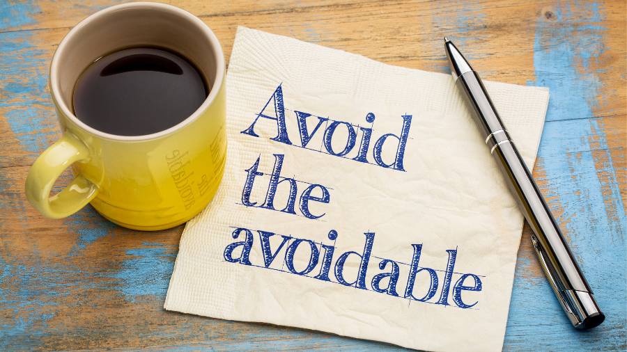
[[[74,113],[90,127],[142,136],[172,127],[203,103],[208,88],[183,56],[157,48],[116,51],[94,61],[74,88]]]

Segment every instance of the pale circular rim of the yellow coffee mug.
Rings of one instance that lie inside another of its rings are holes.
[[[77,116],[74,113],[72,113],[72,111],[70,111],[70,109],[68,108],[68,105],[65,104],[65,100],[61,96],[61,87],[60,87],[60,82],[58,78],[59,65],[60,65],[59,57],[61,56],[63,51],[66,50],[68,42],[70,42],[84,26],[86,26],[89,22],[93,22],[94,19],[97,19],[98,17],[102,17],[105,15],[109,15],[110,13],[114,13],[118,10],[124,10],[126,8],[153,8],[157,10],[174,12],[178,15],[185,17],[185,19],[189,20],[190,22],[193,22],[194,24],[196,24],[196,26],[199,27],[199,29],[201,29],[201,31],[203,31],[203,33],[206,35],[206,38],[208,38],[211,48],[215,52],[216,54],[215,56],[217,58],[216,60],[217,62],[215,63],[215,70],[216,70],[215,79],[214,79],[213,85],[210,87],[209,95],[206,97],[203,103],[192,114],[187,116],[185,120],[178,122],[178,124],[172,127],[169,127],[168,129],[164,129],[163,131],[158,131],[153,134],[144,134],[141,136],[121,136],[118,134],[109,134],[109,133],[100,131],[98,129],[95,129],[87,125],[85,122],[82,122],[81,120],[79,120],[79,118],[77,118]],[[222,88],[222,84],[224,82],[225,65],[226,64],[224,62],[224,53],[222,52],[222,45],[220,45],[220,42],[217,40],[217,37],[215,36],[213,31],[209,28],[209,26],[205,24],[205,22],[203,22],[198,17],[194,16],[192,13],[189,13],[186,10],[183,10],[182,8],[178,8],[176,6],[172,6],[167,3],[154,3],[154,2],[122,3],[120,5],[115,5],[115,6],[110,6],[108,8],[104,8],[103,10],[100,10],[97,13],[93,13],[92,15],[89,15],[85,19],[82,19],[81,22],[79,22],[76,26],[70,29],[68,34],[66,34],[65,37],[61,40],[61,42],[59,43],[59,47],[56,48],[56,51],[54,51],[54,55],[52,56],[52,63],[50,64],[50,88],[52,91],[52,99],[54,100],[54,103],[56,104],[57,108],[61,110],[63,115],[65,115],[69,120],[71,120],[75,125],[77,125],[81,129],[88,131],[90,134],[94,134],[95,136],[99,136],[100,138],[106,138],[106,139],[115,140],[115,141],[148,141],[148,140],[152,140],[155,138],[160,138],[160,137],[172,134],[173,132],[178,131],[178,129],[182,129],[183,127],[197,120],[199,116],[201,115],[202,111],[205,111],[208,108],[208,106],[212,104],[212,102],[215,100],[215,98],[219,94]]]

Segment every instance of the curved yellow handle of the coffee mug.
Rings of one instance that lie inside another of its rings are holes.
[[[47,218],[65,218],[87,205],[98,193],[98,186],[78,175],[52,197],[50,191],[56,179],[72,163],[89,159],[87,147],[74,135],[65,132],[33,163],[26,177],[26,198]]]

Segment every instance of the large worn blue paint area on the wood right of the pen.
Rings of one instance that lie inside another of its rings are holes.
[[[553,199],[552,211],[560,211],[589,285],[607,319],[598,328],[573,330],[543,278],[524,278],[526,260],[518,262],[509,316],[506,346],[524,349],[514,336],[534,336],[548,350],[625,349],[627,223],[616,170],[601,179],[601,157],[611,161],[605,134],[587,138],[600,129],[601,119],[591,118],[598,109],[603,82],[591,69],[604,47],[605,18],[600,3],[558,6],[552,20],[536,22],[534,68],[531,84],[550,89],[550,104],[539,150],[543,178],[550,184],[545,197]],[[562,122],[562,123],[555,123]],[[578,143],[564,136],[582,136]],[[605,150],[592,152],[596,147]],[[599,155],[601,154],[601,155]],[[618,332],[618,333],[617,333]],[[622,333],[621,333],[622,332]],[[559,336],[560,339],[554,337]],[[542,337],[546,337],[543,339]]]

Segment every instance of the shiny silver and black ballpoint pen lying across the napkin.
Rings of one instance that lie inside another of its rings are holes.
[[[532,244],[557,301],[575,328],[598,326],[605,320],[605,315],[594,301],[588,282],[568,249],[531,173],[520,158],[516,145],[511,141],[479,75],[446,37],[444,47],[455,85],[467,98],[475,122],[486,136],[490,154],[495,157],[522,214],[532,227]]]

